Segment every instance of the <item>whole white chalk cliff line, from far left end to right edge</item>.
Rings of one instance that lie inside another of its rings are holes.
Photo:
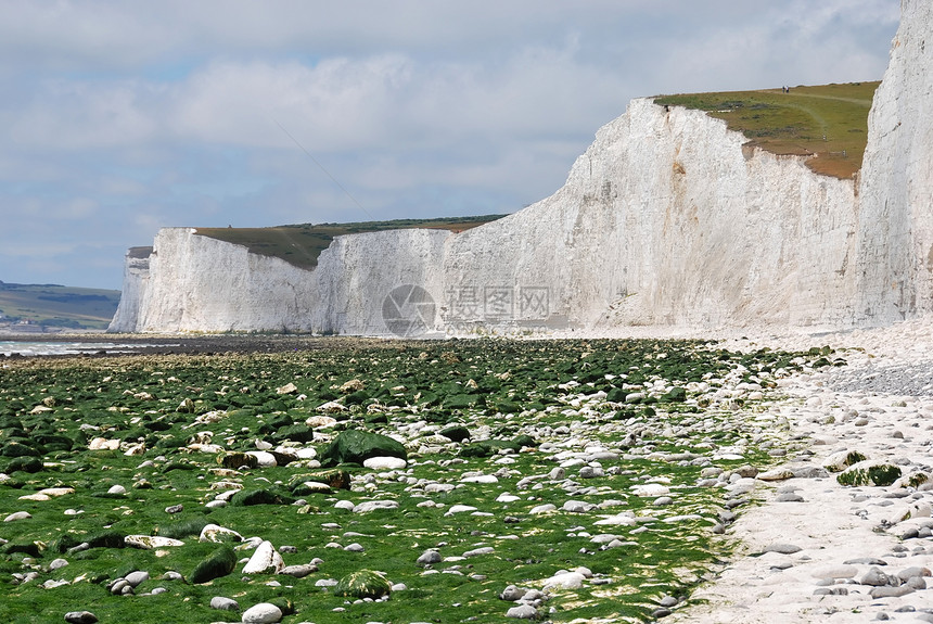
[[[148,271],[128,255],[111,330],[420,333],[398,316],[458,332],[839,329],[933,310],[933,9],[905,0],[902,13],[856,180],[747,148],[702,112],[635,100],[557,193],[462,233],[338,237],[305,270],[164,229]],[[409,302],[411,284],[426,296]]]

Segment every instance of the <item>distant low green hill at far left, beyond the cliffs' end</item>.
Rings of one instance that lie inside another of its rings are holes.
[[[3,329],[10,323],[30,321],[46,327],[105,330],[117,304],[119,291],[0,281]]]

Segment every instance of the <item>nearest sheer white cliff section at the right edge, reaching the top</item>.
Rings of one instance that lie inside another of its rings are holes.
[[[933,310],[933,4],[902,2],[869,116],[858,220],[856,320]],[[931,49],[926,49],[930,37]]]

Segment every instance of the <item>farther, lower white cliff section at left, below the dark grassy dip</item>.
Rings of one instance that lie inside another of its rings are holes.
[[[110,331],[386,333],[382,306],[393,289],[419,283],[439,291],[447,237],[437,230],[340,237],[308,271],[194,228],[164,228],[144,260],[127,256]]]

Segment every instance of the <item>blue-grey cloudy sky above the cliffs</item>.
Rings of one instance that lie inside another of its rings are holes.
[[[880,79],[897,0],[0,0],[0,280],[162,227],[511,213],[632,98]]]

